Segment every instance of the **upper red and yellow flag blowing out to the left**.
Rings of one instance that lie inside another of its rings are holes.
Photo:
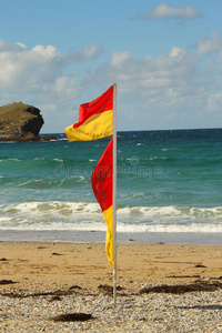
[[[69,142],[112,135],[112,111],[113,85],[95,100],[80,105],[79,121],[64,130]]]

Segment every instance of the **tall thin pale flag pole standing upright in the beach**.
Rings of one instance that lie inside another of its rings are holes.
[[[113,84],[113,175],[112,175],[113,304],[117,304],[117,83]]]

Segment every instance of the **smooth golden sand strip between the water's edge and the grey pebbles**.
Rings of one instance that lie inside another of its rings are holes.
[[[139,292],[144,285],[212,280],[222,276],[222,246],[118,245],[118,285]],[[112,284],[104,244],[1,242],[1,279],[10,287],[44,290]]]

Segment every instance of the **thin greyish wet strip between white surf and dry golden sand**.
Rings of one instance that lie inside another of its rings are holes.
[[[0,242],[104,243],[105,231],[81,230],[1,230]],[[222,233],[198,232],[118,232],[118,244],[222,245]]]

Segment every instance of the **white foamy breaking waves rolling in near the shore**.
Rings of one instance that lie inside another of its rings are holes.
[[[0,206],[0,230],[94,230],[105,223],[98,203],[26,202]],[[119,232],[222,232],[222,206],[118,206]]]

